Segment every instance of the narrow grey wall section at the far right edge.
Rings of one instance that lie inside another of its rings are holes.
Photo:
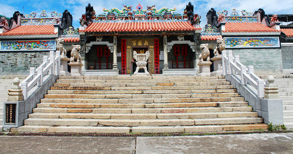
[[[283,69],[293,69],[293,43],[291,45],[282,44]]]

